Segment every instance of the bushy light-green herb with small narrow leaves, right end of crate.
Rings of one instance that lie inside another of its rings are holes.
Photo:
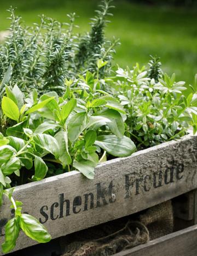
[[[126,136],[137,148],[179,138],[189,127],[196,130],[196,85],[191,86],[193,93],[185,97],[185,82],[176,82],[175,74],[162,75],[159,71],[157,81],[150,79],[149,71],[138,64],[133,70],[119,68],[113,86],[108,87],[126,110]]]

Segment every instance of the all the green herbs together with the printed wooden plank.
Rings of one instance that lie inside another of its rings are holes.
[[[73,33],[74,14],[67,29],[44,16],[27,28],[9,10],[0,45],[0,255],[197,188],[197,138],[188,132],[197,131],[197,76],[186,97],[157,57],[112,68],[119,42],[103,33],[110,2],[84,36]]]

